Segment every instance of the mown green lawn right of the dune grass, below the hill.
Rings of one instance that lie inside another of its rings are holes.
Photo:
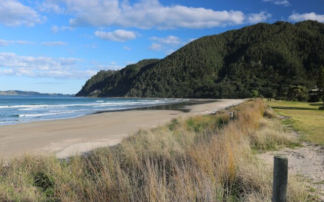
[[[289,102],[278,100],[267,102],[278,114],[289,116],[284,121],[301,133],[301,139],[324,144],[324,111],[318,110],[322,103]]]

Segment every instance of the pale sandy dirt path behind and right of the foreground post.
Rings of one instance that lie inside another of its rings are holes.
[[[269,166],[273,166],[273,155],[284,154],[288,157],[288,172],[296,174],[307,182],[309,190],[324,201],[324,146],[303,143],[299,148],[283,148],[269,151],[259,157]]]

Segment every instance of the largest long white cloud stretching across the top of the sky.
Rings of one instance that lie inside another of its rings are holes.
[[[239,25],[245,22],[245,15],[241,11],[165,6],[158,0],[142,0],[134,4],[118,0],[47,0],[42,5],[45,11],[64,12],[73,16],[69,20],[71,26],[199,29]]]

